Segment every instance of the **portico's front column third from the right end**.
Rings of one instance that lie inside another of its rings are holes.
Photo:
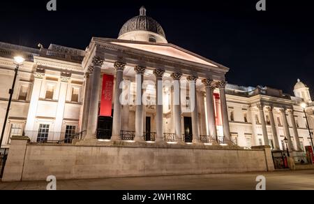
[[[197,76],[190,75],[187,78],[189,85],[190,107],[192,115],[192,131],[193,131],[193,143],[200,143],[200,123],[198,119],[197,108],[197,93],[196,93],[196,80]]]

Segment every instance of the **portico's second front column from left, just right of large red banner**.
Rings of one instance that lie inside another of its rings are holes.
[[[120,95],[122,90],[120,89],[120,84],[124,80],[124,68],[126,64],[120,61],[114,63],[114,68],[116,69],[116,82],[114,87],[114,115],[112,122],[112,141],[120,140],[121,131],[121,103]]]

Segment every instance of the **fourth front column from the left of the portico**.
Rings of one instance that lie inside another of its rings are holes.
[[[154,70],[156,75],[156,142],[165,141],[163,139],[163,74],[162,69]]]

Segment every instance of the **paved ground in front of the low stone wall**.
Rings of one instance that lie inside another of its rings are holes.
[[[57,180],[57,189],[104,190],[207,190],[255,189],[257,175],[266,177],[266,189],[314,189],[314,170],[276,171],[273,173],[234,173],[163,177],[127,177],[97,180]],[[46,189],[47,182],[0,182],[0,190]]]

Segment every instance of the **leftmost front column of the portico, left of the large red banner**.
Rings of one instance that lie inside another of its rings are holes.
[[[94,140],[97,134],[97,122],[98,122],[98,103],[100,92],[100,71],[103,65],[103,59],[100,57],[94,57],[93,65],[89,67],[91,73],[91,98],[89,102],[89,119],[87,122],[87,136],[84,140]]]

